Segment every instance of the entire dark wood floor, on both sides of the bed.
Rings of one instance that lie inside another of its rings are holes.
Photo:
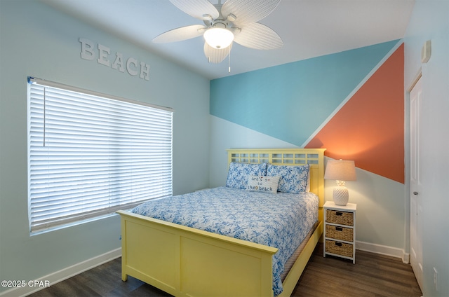
[[[122,282],[120,261],[120,258],[110,261],[31,296],[170,296],[133,277]],[[324,258],[320,245],[292,294],[319,297],[421,295],[412,268],[398,258],[357,250],[354,265],[341,258]]]

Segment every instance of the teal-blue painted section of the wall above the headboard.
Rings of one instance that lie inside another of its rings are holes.
[[[302,146],[398,41],[210,81],[210,114]]]

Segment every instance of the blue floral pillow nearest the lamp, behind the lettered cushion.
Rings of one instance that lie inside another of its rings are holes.
[[[281,177],[278,191],[283,193],[301,193],[307,189],[309,164],[300,166],[267,165],[267,177]]]

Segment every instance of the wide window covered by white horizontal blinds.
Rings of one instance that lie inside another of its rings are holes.
[[[171,109],[28,81],[31,232],[172,195]]]

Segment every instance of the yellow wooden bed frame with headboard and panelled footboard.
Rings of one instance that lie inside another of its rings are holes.
[[[324,148],[229,149],[228,161],[310,165],[310,191],[319,196],[319,226],[283,281],[290,296],[323,233]],[[174,296],[273,296],[277,249],[147,216],[121,216],[121,278],[128,275]]]

